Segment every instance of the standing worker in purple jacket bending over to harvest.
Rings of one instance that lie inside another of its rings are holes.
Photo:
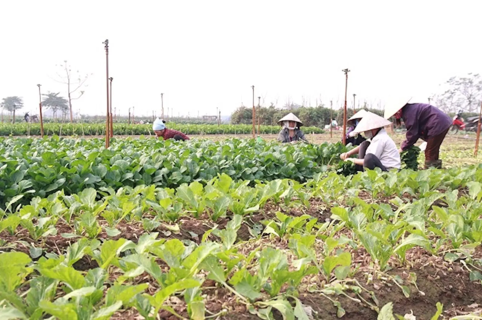
[[[442,168],[442,160],[439,159],[440,146],[452,125],[452,119],[433,105],[409,103],[411,100],[402,100],[385,108],[385,119],[394,116],[397,125],[400,125],[400,119],[403,119],[407,128],[406,139],[399,152],[409,149],[421,138],[427,141],[425,168]]]

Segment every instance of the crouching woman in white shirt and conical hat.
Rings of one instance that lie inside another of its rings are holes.
[[[384,129],[390,124],[391,122],[383,117],[367,112],[352,132],[363,133],[370,141],[363,141],[355,149],[341,154],[340,158],[353,162],[360,171],[364,168],[373,170],[375,167],[379,167],[382,171],[400,169],[401,160],[397,145]],[[349,157],[353,154],[358,154],[358,159]]]

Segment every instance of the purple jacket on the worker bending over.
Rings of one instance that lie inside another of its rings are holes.
[[[406,150],[418,140],[427,141],[452,125],[452,119],[440,109],[427,103],[409,103],[402,109],[402,118],[407,128],[406,140],[402,150]]]

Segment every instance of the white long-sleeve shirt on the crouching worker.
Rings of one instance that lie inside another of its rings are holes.
[[[383,128],[372,138],[366,149],[366,154],[375,155],[388,170],[391,168],[400,169],[401,160],[397,145]]]

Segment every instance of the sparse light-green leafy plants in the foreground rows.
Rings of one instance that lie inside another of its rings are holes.
[[[349,293],[378,312],[379,319],[393,318],[392,305],[379,305],[375,292],[352,277],[356,266],[350,252],[360,248],[370,255],[371,269],[407,297],[417,293],[416,276],[390,275],[389,260],[405,263],[412,248],[460,262],[470,279],[482,284],[482,261],[472,257],[482,242],[482,165],[378,171],[347,177],[331,172],[304,183],[275,179],[253,186],[221,174],[205,185],[192,181],[176,189],[150,185],[117,191],[87,188],[71,195],[57,191],[27,205],[20,202],[23,195],[16,196],[0,211],[0,232],[12,236],[27,230],[35,243],[25,243],[25,253],[15,251],[14,243],[1,243],[0,317],[109,319],[135,308],[145,319],[156,319],[160,310],[178,315],[170,303],[176,297],[189,318],[201,320],[209,314],[205,282],[210,280],[260,319],[273,319],[274,309],[284,319],[309,319],[300,290],[326,297],[339,317],[345,310],[336,296]],[[460,193],[461,188],[467,191]],[[358,198],[361,190],[370,192],[370,199]],[[411,201],[402,200],[407,193]],[[386,196],[392,197],[390,204],[376,201]],[[241,226],[268,202],[289,212],[309,208],[312,198],[330,204],[330,220],[277,211],[259,225],[249,224],[250,241],[238,241]],[[180,217],[202,215],[208,216],[206,222],[221,217],[229,222],[225,228],[212,225],[197,243],[160,232],[160,226],[168,226],[176,233]],[[61,236],[75,242],[62,252],[44,250],[41,240],[57,234],[59,221],[73,227]],[[120,222],[142,223],[145,233],[136,242],[118,238]],[[100,237],[103,230],[107,236]],[[287,245],[266,245],[270,240]],[[91,261],[90,268],[80,269],[80,260]]]

